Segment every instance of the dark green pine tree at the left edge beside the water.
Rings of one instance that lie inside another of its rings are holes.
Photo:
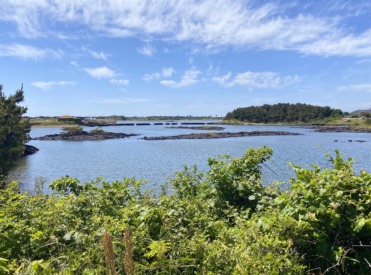
[[[13,162],[23,155],[25,143],[29,141],[29,119],[23,114],[27,107],[17,104],[24,101],[23,83],[14,95],[6,97],[0,85],[0,177],[9,174]]]

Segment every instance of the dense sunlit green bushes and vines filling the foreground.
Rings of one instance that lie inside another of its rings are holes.
[[[371,180],[354,159],[293,165],[290,190],[263,187],[272,149],[175,171],[161,193],[147,181],[68,176],[42,194],[0,195],[0,268],[18,274],[370,274]],[[101,187],[98,187],[101,186]],[[172,190],[170,190],[172,189]]]

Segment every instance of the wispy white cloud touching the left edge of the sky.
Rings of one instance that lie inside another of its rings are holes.
[[[0,56],[14,56],[23,60],[34,59],[35,61],[42,61],[45,58],[62,58],[61,53],[53,49],[39,49],[31,45],[17,43],[0,45]]]

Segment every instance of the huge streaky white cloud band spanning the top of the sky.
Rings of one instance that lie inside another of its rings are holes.
[[[355,10],[363,10],[364,14],[369,6],[362,7],[361,2],[346,2],[344,10],[352,8],[354,15],[362,13]],[[370,55],[370,30],[355,33],[344,22],[348,13],[329,12],[332,7],[318,5],[321,12],[314,13],[315,9],[276,1],[0,1],[1,20],[16,24],[18,33],[26,38],[55,33],[65,37],[53,28],[73,23],[96,35],[191,42],[193,52],[232,46],[324,56]],[[148,44],[140,52],[152,56],[155,48]]]

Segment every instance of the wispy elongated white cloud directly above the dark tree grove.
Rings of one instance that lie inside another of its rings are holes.
[[[243,72],[237,74],[230,82],[231,72],[228,72],[223,77],[213,77],[213,80],[224,87],[233,87],[234,85],[242,85],[249,88],[275,88],[280,89],[294,83],[298,83],[301,79],[295,75],[281,78],[277,72]]]

